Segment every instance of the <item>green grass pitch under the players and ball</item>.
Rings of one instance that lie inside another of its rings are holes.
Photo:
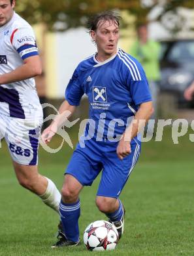
[[[75,133],[74,133],[75,134]],[[74,134],[74,145],[76,137]],[[52,146],[59,144],[54,139]],[[50,249],[56,238],[58,217],[39,198],[18,185],[5,142],[1,154],[1,228],[0,255],[101,255],[87,251],[85,245],[68,249]],[[40,148],[40,173],[61,188],[63,171],[72,154],[63,146],[57,154]],[[170,131],[162,142],[146,142],[135,171],[121,194],[126,209],[125,234],[115,251],[105,255],[194,255],[193,143],[188,136],[172,144]],[[84,228],[98,219],[106,219],[95,207],[98,181],[84,188],[80,196]]]

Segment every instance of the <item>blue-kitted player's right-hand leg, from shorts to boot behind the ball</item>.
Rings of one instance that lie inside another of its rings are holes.
[[[140,146],[136,143],[131,145],[131,154],[123,160],[119,160],[116,152],[107,152],[97,192],[97,207],[115,224],[120,238],[124,228],[125,209],[118,197],[137,163],[139,154]]]

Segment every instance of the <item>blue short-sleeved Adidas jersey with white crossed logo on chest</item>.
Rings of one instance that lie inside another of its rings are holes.
[[[65,98],[78,106],[84,93],[88,96],[89,119],[93,120],[90,125],[94,126],[96,140],[123,134],[140,104],[152,100],[141,64],[121,49],[105,62],[98,62],[95,55],[80,62]]]

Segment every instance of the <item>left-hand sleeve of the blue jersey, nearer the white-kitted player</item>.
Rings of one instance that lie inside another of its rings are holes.
[[[80,85],[78,71],[75,70],[69,81],[69,84],[67,85],[67,89],[65,91],[65,99],[70,105],[78,106],[83,95],[84,91]]]

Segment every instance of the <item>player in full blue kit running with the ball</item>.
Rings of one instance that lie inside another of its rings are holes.
[[[64,113],[73,113],[82,95],[88,96],[85,136],[74,150],[61,190],[63,232],[52,247],[79,244],[78,196],[83,186],[91,186],[101,171],[96,205],[115,224],[119,238],[123,233],[125,209],[119,196],[140,154],[138,125],[142,119],[148,121],[153,107],[142,66],[117,47],[119,26],[120,16],[112,11],[89,19],[89,33],[97,53],[74,70],[59,114],[42,133],[42,140],[50,142],[67,116]]]

